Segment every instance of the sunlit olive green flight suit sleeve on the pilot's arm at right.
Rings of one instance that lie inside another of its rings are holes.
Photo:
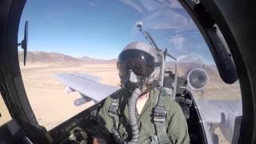
[[[186,144],[190,143],[190,136],[188,133],[188,127],[186,124],[186,118],[182,113],[181,107],[177,102],[170,100],[168,109],[169,120],[167,122],[167,136],[170,141],[175,144]]]

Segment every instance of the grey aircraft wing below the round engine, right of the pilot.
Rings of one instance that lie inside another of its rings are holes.
[[[239,133],[242,119],[241,100],[194,99],[202,122],[209,126],[218,126],[226,140],[233,142],[233,135]]]

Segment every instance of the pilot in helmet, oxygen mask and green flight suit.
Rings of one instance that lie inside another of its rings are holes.
[[[131,42],[117,66],[122,88],[99,110],[93,143],[190,143],[181,107],[159,86],[157,52],[145,42]]]

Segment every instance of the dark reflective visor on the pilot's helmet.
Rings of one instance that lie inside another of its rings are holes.
[[[154,65],[154,57],[142,50],[125,50],[118,57],[118,70],[122,76],[133,70],[134,74],[148,77],[154,71]]]

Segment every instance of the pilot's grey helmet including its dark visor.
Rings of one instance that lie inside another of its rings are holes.
[[[146,84],[152,84],[158,80],[160,62],[154,48],[145,42],[131,42],[118,56],[118,71],[121,85],[127,88],[127,75],[130,71],[136,75],[138,82],[143,80]]]

